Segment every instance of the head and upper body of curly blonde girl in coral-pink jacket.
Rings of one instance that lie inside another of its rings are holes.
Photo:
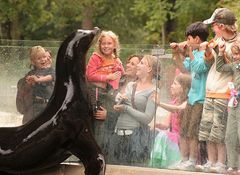
[[[103,31],[98,39],[96,51],[87,65],[86,76],[89,82],[103,89],[107,84],[113,89],[118,89],[119,80],[124,74],[118,50],[117,35],[111,31]]]

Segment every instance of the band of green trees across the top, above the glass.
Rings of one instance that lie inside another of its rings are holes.
[[[118,34],[120,43],[161,45],[184,40],[186,27],[209,18],[217,7],[240,17],[238,0],[2,0],[0,37],[63,40],[88,20],[89,28]]]

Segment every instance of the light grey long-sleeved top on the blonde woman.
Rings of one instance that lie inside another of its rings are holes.
[[[155,87],[135,92],[134,103],[135,108],[131,104],[131,96],[133,84],[129,82],[126,87],[127,101],[124,102],[125,110],[120,113],[116,129],[134,129],[140,124],[149,124],[155,115],[155,103],[150,98],[151,94],[156,90]]]

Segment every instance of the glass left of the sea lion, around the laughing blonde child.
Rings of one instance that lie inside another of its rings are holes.
[[[30,68],[31,61],[29,56],[29,50],[34,45],[44,45],[45,48],[50,49],[53,58],[56,55],[59,42],[39,42],[39,41],[12,41],[1,40],[0,43],[0,115],[2,127],[19,126],[22,124],[23,114],[26,108],[31,109],[30,102],[23,103],[23,98],[28,97],[28,88],[23,83],[19,83],[19,80],[23,78],[32,68]],[[54,59],[52,67],[54,67]],[[25,81],[21,81],[24,82]],[[22,86],[26,91],[21,91],[21,100],[16,103],[17,86]],[[45,86],[45,85],[44,85]],[[23,94],[24,93],[24,94]],[[51,94],[49,94],[51,96]],[[31,99],[28,97],[27,99]],[[31,99],[32,100],[32,99]],[[24,101],[31,101],[24,100]],[[33,99],[35,100],[35,99]],[[17,109],[17,106],[19,109]],[[47,100],[44,101],[46,106]],[[42,107],[42,108],[43,108]],[[21,113],[20,113],[21,112]]]

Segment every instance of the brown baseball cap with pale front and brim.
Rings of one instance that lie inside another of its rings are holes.
[[[217,8],[213,12],[212,16],[209,19],[203,21],[203,23],[212,24],[216,22],[225,25],[234,25],[236,21],[237,18],[232,11],[227,8]]]

